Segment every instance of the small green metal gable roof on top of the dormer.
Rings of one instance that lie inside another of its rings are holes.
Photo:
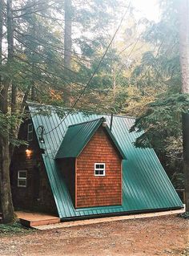
[[[103,124],[104,121],[106,121],[106,119],[101,117],[96,120],[90,120],[80,124],[70,125],[66,130],[66,135],[63,137],[60,147],[58,148],[55,159],[65,157],[78,157],[83,148],[85,148],[86,144],[94,135],[94,132],[97,131],[97,129]],[[122,158],[126,158],[122,149],[119,147],[119,144],[115,140],[115,137],[111,133],[110,128],[105,126],[104,130],[107,131],[107,135],[110,137]]]

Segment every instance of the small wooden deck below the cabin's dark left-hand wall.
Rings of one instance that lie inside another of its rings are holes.
[[[60,218],[53,215],[48,215],[45,213],[30,213],[17,211],[15,212],[20,219],[20,222],[23,226],[34,227],[34,226],[43,226],[56,224],[60,222]]]

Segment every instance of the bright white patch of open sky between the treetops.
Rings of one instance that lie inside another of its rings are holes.
[[[146,17],[149,20],[158,22],[159,5],[157,0],[132,0],[132,5],[139,10],[139,17]]]

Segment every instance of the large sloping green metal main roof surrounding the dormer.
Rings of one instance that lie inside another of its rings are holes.
[[[62,117],[58,116],[56,112],[43,116],[41,110],[45,110],[46,106],[40,106],[40,110],[38,110],[38,106],[30,104],[29,108],[35,131],[39,125],[43,125],[45,128],[45,144],[41,144],[39,141],[38,144],[40,148],[45,149],[45,154],[42,157],[59,217],[83,217],[95,214],[145,212],[183,207],[182,201],[175,192],[155,151],[152,148],[135,148],[133,142],[141,135],[141,132],[129,132],[135,119],[114,116],[111,132],[127,156],[127,160],[123,160],[123,204],[74,209],[70,193],[58,165],[54,161],[54,156],[69,125],[94,120],[102,116],[75,112],[62,120]],[[107,124],[110,125],[111,116],[104,117],[107,119]]]

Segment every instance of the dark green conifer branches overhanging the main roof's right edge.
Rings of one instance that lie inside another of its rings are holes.
[[[136,140],[138,147],[155,147],[164,149],[164,142],[168,137],[181,136],[181,118],[183,112],[188,112],[189,96],[175,94],[163,99],[156,100],[148,105],[147,111],[139,116],[131,132],[137,129],[139,132],[144,130],[142,136]]]

